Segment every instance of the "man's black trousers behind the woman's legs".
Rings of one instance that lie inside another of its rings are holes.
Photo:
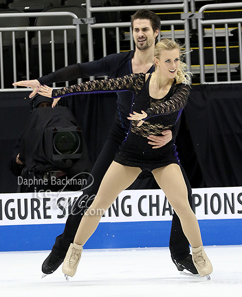
[[[72,206],[72,213],[69,214],[63,233],[56,238],[56,243],[52,248],[53,253],[64,257],[70,245],[73,243],[75,233],[80,224],[85,209],[90,206],[92,198],[97,194],[101,181],[112,163],[119,146],[126,137],[125,130],[117,122],[111,128],[109,137],[92,169],[91,175],[94,182],[91,187],[84,189],[83,195],[78,198]],[[191,205],[191,187],[187,176],[181,166],[182,174],[187,186],[188,200]],[[171,255],[180,260],[189,254],[189,243],[182,231],[180,219],[176,213],[173,215],[172,229],[170,237]]]

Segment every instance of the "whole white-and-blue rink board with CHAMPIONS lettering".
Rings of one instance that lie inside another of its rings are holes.
[[[0,194],[0,251],[50,250],[80,195]],[[192,195],[204,245],[242,245],[242,187]],[[162,190],[123,191],[85,247],[168,247],[172,214]]]

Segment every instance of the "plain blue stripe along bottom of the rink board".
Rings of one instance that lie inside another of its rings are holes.
[[[242,245],[242,219],[199,220],[205,246]],[[0,251],[50,250],[64,224],[0,226]],[[85,248],[168,247],[171,221],[101,223]]]

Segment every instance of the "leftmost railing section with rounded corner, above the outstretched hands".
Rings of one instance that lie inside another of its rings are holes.
[[[0,18],[16,18],[16,17],[64,17],[70,16],[73,19],[77,19],[78,17],[72,12],[34,12],[34,13],[1,13]],[[52,56],[52,71],[55,71],[55,30],[63,31],[63,45],[64,45],[64,66],[68,65],[68,49],[67,49],[67,30],[74,30],[75,31],[75,38],[76,38],[76,62],[81,62],[81,42],[80,42],[80,28],[79,24],[75,25],[64,25],[64,26],[28,26],[28,27],[4,27],[0,28],[0,92],[9,92],[17,89],[17,91],[26,91],[26,88],[17,88],[14,86],[13,89],[6,89],[4,88],[4,65],[3,65],[3,43],[4,40],[2,39],[3,32],[12,32],[12,68],[13,68],[13,82],[17,81],[17,65],[16,65],[16,39],[15,39],[15,32],[24,31],[25,32],[25,64],[26,64],[26,79],[30,79],[30,63],[29,63],[29,39],[28,39],[28,32],[34,31],[37,33],[38,36],[38,58],[39,58],[39,76],[43,74],[43,57],[42,57],[42,43],[41,43],[41,32],[43,31],[50,31],[50,44],[51,44],[51,56]],[[10,61],[8,67],[11,67]],[[66,82],[67,86],[68,82]],[[56,85],[53,84],[55,87]]]

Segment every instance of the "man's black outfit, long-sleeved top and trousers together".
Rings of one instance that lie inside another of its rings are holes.
[[[71,81],[77,78],[88,78],[92,75],[106,75],[110,78],[122,77],[133,73],[132,58],[134,53],[134,50],[113,53],[97,61],[69,65],[46,76],[43,76],[38,80],[42,85],[51,85],[53,82],[64,82],[66,80]],[[147,72],[153,72],[154,70],[155,67],[153,65]],[[132,92],[117,92],[118,108],[114,119],[114,124],[110,130],[106,143],[102,148],[102,151],[99,154],[91,171],[94,183],[92,186],[85,189],[82,196],[80,196],[74,202],[72,211],[66,220],[64,231],[56,238],[55,245],[52,247],[52,252],[55,255],[60,256],[60,258],[65,257],[70,243],[73,243],[77,228],[83,214],[85,213],[85,209],[92,202],[90,197],[95,197],[97,194],[106,171],[114,160],[117,151],[119,150],[123,140],[127,135],[127,131],[130,126],[130,121],[127,119],[127,116],[131,108],[132,95]],[[176,125],[172,127],[173,140],[178,134],[179,126],[180,119]],[[182,164],[180,164],[180,166],[187,187],[188,200],[190,205],[192,205],[191,187],[184,169],[182,168]],[[141,172],[141,175],[142,174],[143,172]],[[145,180],[138,178],[134,184],[135,186],[132,189],[152,189],[155,181],[153,177],[147,178]],[[176,212],[174,212],[172,219],[170,250],[172,256],[177,260],[183,259],[190,252],[189,243],[182,231],[181,222]]]

